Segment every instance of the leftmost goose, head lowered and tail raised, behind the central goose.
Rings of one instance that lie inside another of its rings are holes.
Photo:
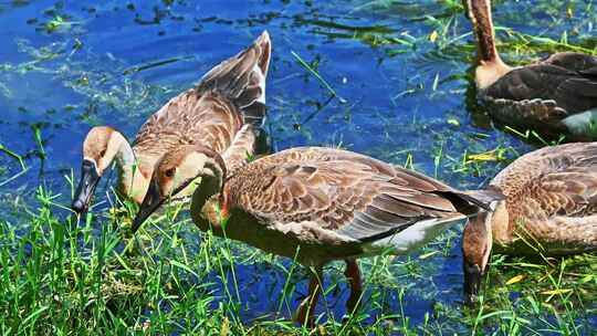
[[[235,169],[252,154],[265,116],[271,41],[263,32],[235,56],[209,71],[193,88],[171,98],[142,126],[133,146],[114,128],[94,127],[83,143],[83,167],[72,208],[84,211],[104,171],[116,160],[119,190],[140,203],[165,154],[199,144]]]

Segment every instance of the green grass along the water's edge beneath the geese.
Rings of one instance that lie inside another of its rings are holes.
[[[451,230],[419,254],[362,260],[367,294],[346,323],[334,314],[346,293],[343,265],[328,266],[327,296],[317,311],[324,319],[310,330],[291,321],[297,283],[307,276],[302,266],[201,233],[180,208],[132,237],[135,206],[116,201],[100,218],[77,219],[57,199],[40,187],[27,216],[0,221],[2,335],[583,335],[586,318],[597,313],[597,258],[590,254],[538,261],[494,255],[480,307],[447,303],[437,285],[444,282],[438,272],[446,258],[458,261],[459,233]],[[247,295],[260,281],[273,281],[271,298]],[[408,313],[413,297],[432,303],[425,316]],[[269,300],[266,316],[241,318]]]

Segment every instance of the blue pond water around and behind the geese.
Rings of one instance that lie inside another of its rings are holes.
[[[132,138],[151,113],[263,30],[273,40],[266,126],[274,148],[342,145],[398,165],[411,164],[458,188],[482,186],[505,162],[481,164],[481,174],[463,170],[465,150],[510,148],[506,156],[513,157],[534,147],[495,129],[474,104],[467,103],[474,57],[470,24],[447,3],[2,1],[0,144],[24,156],[29,170],[9,180],[21,167],[0,154],[0,166],[7,167],[0,170],[0,207],[7,216],[18,216],[20,204],[30,202],[40,185],[61,195],[56,202],[67,204],[71,196],[64,176],[72,169],[78,174],[81,141],[90,127],[112,125]],[[573,32],[569,41],[595,48],[596,14],[587,3],[573,2],[568,18],[566,4],[557,1],[500,2],[494,21],[556,40],[565,31]],[[450,24],[443,31],[430,17]],[[53,25],[56,20],[62,22]],[[434,30],[439,38],[433,43],[429,36]],[[346,102],[332,97],[298,64],[293,51]],[[527,56],[509,51],[505,59]],[[165,64],[144,69],[159,62]],[[14,198],[20,200],[17,206]],[[420,262],[422,275],[416,281],[397,275],[395,286],[373,288],[368,295],[383,293],[380,306],[396,311],[398,285],[410,286],[402,307],[412,324],[421,323],[426,312],[432,314],[438,303],[460,311],[457,233],[446,256]],[[283,274],[268,267],[239,271],[247,279],[261,273],[261,280],[248,282],[243,291],[243,301],[251,306],[243,316],[247,322],[269,316],[277,307],[276,302],[255,300],[269,296],[269,287],[284,284]],[[335,279],[341,281],[339,275]],[[304,292],[304,284],[300,286]],[[345,298],[346,291],[328,295],[328,301],[338,301],[333,305],[337,318]],[[594,314],[587,318],[597,326]],[[447,332],[462,328],[446,326]]]

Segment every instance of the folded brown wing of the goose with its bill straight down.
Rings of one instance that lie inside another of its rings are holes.
[[[546,147],[502,170],[492,185],[525,218],[597,213],[597,143]]]

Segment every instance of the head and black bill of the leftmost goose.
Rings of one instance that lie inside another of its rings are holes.
[[[100,178],[109,167],[126,138],[108,126],[93,127],[83,141],[83,164],[81,179],[76,188],[72,209],[81,213],[91,202]]]

